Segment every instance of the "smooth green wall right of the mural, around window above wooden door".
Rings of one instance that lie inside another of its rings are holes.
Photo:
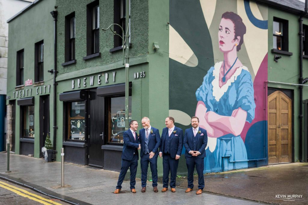
[[[299,16],[290,14],[281,10],[276,10],[269,7],[269,22],[268,22],[268,80],[284,83],[298,84],[299,77]],[[272,53],[273,49],[273,18],[282,18],[288,20],[289,25],[289,52],[292,56],[279,53]],[[304,19],[304,24],[308,25],[308,19]],[[281,56],[278,63],[274,61],[274,55]],[[303,59],[303,77],[308,77],[308,59]],[[268,87],[290,89],[294,93],[294,161],[299,159],[299,89],[298,86],[268,84]],[[303,100],[308,99],[308,87],[303,88]]]

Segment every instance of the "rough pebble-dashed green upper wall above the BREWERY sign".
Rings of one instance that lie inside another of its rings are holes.
[[[103,31],[102,28],[107,28],[113,23],[113,0],[99,1],[99,52],[101,57],[83,60],[87,56],[87,4],[93,0],[86,1],[57,1],[58,6],[58,71],[59,74],[69,73],[76,70],[81,70],[89,67],[95,67],[115,61],[122,61],[122,50],[110,53],[113,48],[113,34],[110,30]],[[75,11],[75,59],[74,65],[63,67],[64,63],[64,29],[65,16]],[[148,4],[147,1],[134,0],[131,1],[131,43],[130,57],[140,56],[148,53]]]

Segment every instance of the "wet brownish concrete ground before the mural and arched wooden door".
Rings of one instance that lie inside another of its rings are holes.
[[[205,190],[212,193],[276,204],[308,204],[308,163],[275,164],[259,168],[206,174]],[[194,176],[195,186],[198,177]],[[187,187],[187,177],[176,179]],[[284,201],[276,195],[302,195]]]

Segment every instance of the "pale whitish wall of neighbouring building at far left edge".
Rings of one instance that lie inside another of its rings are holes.
[[[34,2],[34,0],[0,0],[0,95],[6,95],[7,47],[9,41],[9,24],[6,21],[31,2]]]

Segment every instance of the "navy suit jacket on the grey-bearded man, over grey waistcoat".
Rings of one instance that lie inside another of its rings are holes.
[[[153,130],[153,134],[151,134],[151,130]],[[158,148],[160,146],[160,135],[159,130],[156,128],[151,127],[151,130],[149,132],[149,142],[148,142],[148,148],[149,152],[154,152],[155,155],[158,155]],[[142,128],[139,131],[139,144],[141,145],[140,149],[140,157],[144,155],[144,149],[145,149],[145,129]]]

